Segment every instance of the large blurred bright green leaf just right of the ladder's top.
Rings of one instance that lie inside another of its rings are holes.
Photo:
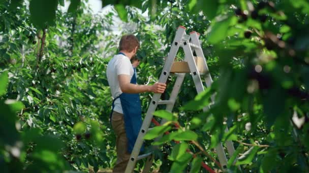
[[[208,36],[207,40],[209,44],[218,44],[222,41],[228,33],[232,17],[222,17],[220,21],[214,22],[214,24],[207,30]]]

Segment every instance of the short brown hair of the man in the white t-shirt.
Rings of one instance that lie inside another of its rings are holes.
[[[135,48],[139,48],[139,40],[135,35],[123,35],[119,42],[119,51],[132,52]]]

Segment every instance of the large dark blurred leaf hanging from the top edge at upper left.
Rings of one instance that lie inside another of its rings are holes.
[[[38,28],[53,25],[56,18],[57,0],[31,0],[29,4],[30,19]]]

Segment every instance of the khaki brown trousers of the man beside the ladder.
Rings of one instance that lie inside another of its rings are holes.
[[[112,128],[116,135],[117,161],[113,168],[114,173],[125,172],[131,153],[128,152],[128,140],[123,114],[113,111]]]

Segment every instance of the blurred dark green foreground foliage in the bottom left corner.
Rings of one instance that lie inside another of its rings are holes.
[[[8,83],[8,76],[3,73],[0,82]],[[2,93],[6,88],[0,90]],[[23,108],[21,102],[12,100],[0,100],[1,113],[1,136],[0,165],[4,172],[34,172],[40,167],[40,171],[61,171],[68,169],[68,163],[58,152],[63,147],[63,142],[53,135],[42,136],[40,129],[33,128],[22,133],[18,132],[16,127],[20,128],[20,122],[16,119],[16,111]],[[33,145],[36,144],[36,145]],[[52,144],[52,145],[51,145]],[[26,153],[32,150],[31,155]],[[27,162],[33,162],[29,164]]]

